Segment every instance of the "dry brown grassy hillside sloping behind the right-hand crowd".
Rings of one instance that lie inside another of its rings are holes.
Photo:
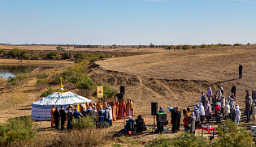
[[[168,106],[194,107],[201,92],[224,89],[227,97],[236,83],[236,99],[245,107],[245,90],[251,92],[256,82],[256,46],[202,48],[186,51],[157,52],[132,57],[98,61],[101,70],[115,85],[126,86],[126,99],[132,99],[136,114],[150,116],[150,102]],[[244,66],[243,78],[238,78],[238,66]],[[115,76],[118,75],[118,76]],[[117,78],[114,78],[117,77]],[[104,78],[104,75],[102,75]],[[106,78],[106,76],[105,76]],[[106,80],[107,81],[107,80]]]

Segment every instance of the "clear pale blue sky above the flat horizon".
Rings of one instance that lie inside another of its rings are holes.
[[[253,0],[0,0],[0,43],[256,43]]]

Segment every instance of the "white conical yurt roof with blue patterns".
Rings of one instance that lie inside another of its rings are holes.
[[[49,106],[49,105],[71,105],[74,103],[89,103],[92,100],[86,99],[83,96],[68,92],[54,92],[42,99],[33,102],[33,105],[37,106]]]

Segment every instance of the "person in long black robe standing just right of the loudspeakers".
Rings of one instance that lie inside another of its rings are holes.
[[[179,111],[179,108],[176,107],[175,110],[171,113],[172,133],[180,131],[180,116],[181,111]]]

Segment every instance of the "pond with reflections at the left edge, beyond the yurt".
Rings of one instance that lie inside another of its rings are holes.
[[[38,66],[21,66],[21,65],[0,65],[0,76],[7,79],[15,77],[15,74],[29,73]],[[50,69],[53,67],[38,67],[40,69]]]

